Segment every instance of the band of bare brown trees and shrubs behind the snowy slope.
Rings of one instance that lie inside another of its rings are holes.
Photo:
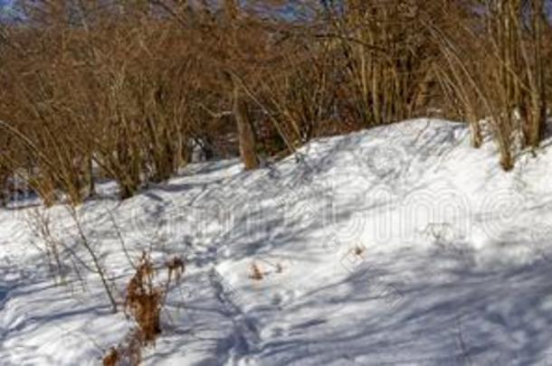
[[[240,3],[240,5],[238,5]],[[317,136],[485,121],[505,170],[552,102],[545,0],[43,0],[0,17],[0,186],[128,198],[190,162],[247,169]],[[2,197],[0,197],[2,198]]]

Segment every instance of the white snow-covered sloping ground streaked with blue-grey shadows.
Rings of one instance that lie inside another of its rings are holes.
[[[119,300],[121,238],[186,258],[146,365],[552,365],[550,145],[504,173],[465,125],[421,119],[253,172],[192,164],[125,202],[106,183],[79,211]],[[65,286],[36,217],[74,254]],[[99,364],[132,326],[80,240],[62,206],[0,211],[0,365]]]

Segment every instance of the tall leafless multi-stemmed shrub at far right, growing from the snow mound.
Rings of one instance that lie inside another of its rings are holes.
[[[473,145],[481,145],[479,120],[489,118],[500,164],[509,170],[516,141],[536,148],[544,136],[549,24],[543,1],[496,0],[480,8],[475,3],[443,8],[442,27],[430,17],[425,23],[443,54],[439,80],[470,122]]]

